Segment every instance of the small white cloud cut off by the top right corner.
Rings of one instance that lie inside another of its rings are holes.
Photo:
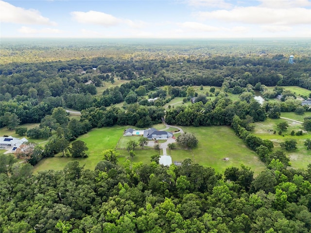
[[[259,0],[260,6],[269,8],[295,8],[311,6],[309,0]]]

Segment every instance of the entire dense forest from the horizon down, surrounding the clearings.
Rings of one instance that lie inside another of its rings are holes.
[[[290,169],[285,153],[252,134],[251,124],[311,111],[297,100],[311,95],[280,87],[311,90],[310,43],[37,42],[1,41],[0,127],[47,143],[33,144],[25,164],[0,155],[0,232],[311,232],[311,165]],[[288,63],[291,54],[294,64]],[[193,86],[204,86],[205,95]],[[259,104],[255,91],[280,101]],[[193,104],[164,108],[174,98],[194,97]],[[81,111],[80,119],[70,118],[67,108]],[[231,126],[266,169],[254,177],[244,165],[220,174],[191,160],[167,167],[154,159],[118,165],[103,158],[94,170],[70,162],[60,171],[32,174],[44,157],[84,157],[74,151],[85,147],[76,139],[92,128],[144,128],[163,117],[180,126]],[[39,126],[27,129],[25,123]],[[311,131],[311,117],[303,127]]]

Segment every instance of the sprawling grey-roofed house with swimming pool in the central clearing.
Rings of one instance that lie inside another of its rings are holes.
[[[166,131],[159,131],[155,128],[149,128],[146,130],[135,130],[132,128],[127,129],[124,134],[124,136],[143,136],[151,139],[167,139],[169,137],[173,137],[173,133],[166,132]]]

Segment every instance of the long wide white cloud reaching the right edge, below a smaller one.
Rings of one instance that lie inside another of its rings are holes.
[[[229,11],[217,10],[211,12],[199,12],[198,17],[202,19],[219,19],[226,22],[242,22],[250,24],[310,24],[311,9],[272,9],[251,6],[237,7]]]

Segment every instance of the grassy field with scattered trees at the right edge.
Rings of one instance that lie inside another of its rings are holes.
[[[291,117],[292,113],[288,113],[286,117]],[[294,114],[294,113],[293,113]],[[278,135],[278,133],[274,134],[274,130],[276,132],[279,131],[276,125],[279,122],[286,121],[289,124],[289,127],[286,131],[282,132],[282,135]],[[297,132],[298,130],[303,130],[301,124],[284,119],[270,119],[268,118],[265,122],[256,122],[254,134],[261,137],[262,139],[269,139],[273,142],[276,149],[281,149],[279,144],[288,139],[295,139],[297,141],[297,149],[296,150],[284,150],[285,153],[289,156],[290,162],[292,164],[292,168],[306,168],[308,164],[311,164],[311,151],[307,150],[307,148],[303,145],[304,141],[307,138],[311,138],[311,133],[304,133],[301,136],[292,136],[291,132],[294,130]]]

